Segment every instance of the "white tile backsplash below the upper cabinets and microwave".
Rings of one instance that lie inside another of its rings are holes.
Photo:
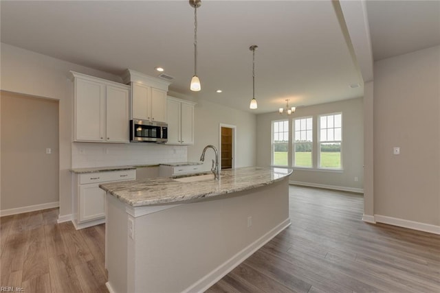
[[[186,162],[186,145],[72,143],[72,168]]]

